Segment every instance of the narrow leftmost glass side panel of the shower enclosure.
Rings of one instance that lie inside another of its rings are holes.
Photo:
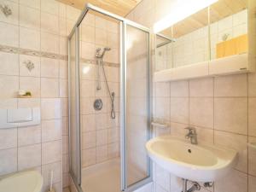
[[[69,39],[69,103],[70,103],[70,112],[69,112],[69,143],[70,143],[70,168],[73,176],[73,180],[76,183],[80,183],[79,174],[80,174],[80,148],[79,148],[79,90],[77,84],[79,83],[78,76],[78,67],[76,63],[76,32],[73,33],[72,38]]]

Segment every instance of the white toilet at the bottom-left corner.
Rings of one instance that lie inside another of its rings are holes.
[[[18,172],[0,179],[0,192],[41,192],[43,177],[37,171]]]

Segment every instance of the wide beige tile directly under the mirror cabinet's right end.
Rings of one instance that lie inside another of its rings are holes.
[[[247,96],[247,74],[215,78],[214,96]]]

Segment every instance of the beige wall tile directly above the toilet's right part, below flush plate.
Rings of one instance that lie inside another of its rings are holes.
[[[41,144],[18,148],[18,170],[41,166]]]

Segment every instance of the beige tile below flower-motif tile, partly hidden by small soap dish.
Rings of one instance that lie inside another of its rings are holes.
[[[30,91],[32,97],[40,97],[40,79],[33,77],[20,77],[20,89]]]

